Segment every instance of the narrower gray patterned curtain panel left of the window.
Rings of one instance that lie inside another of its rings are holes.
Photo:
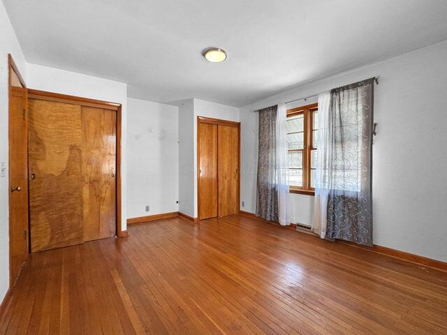
[[[276,180],[277,106],[258,110],[258,180],[256,184],[256,215],[264,220],[278,221]]]

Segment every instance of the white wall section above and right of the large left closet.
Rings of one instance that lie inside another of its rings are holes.
[[[71,96],[81,96],[112,103],[122,104],[122,138],[121,138],[121,209],[122,230],[126,224],[126,140],[127,140],[127,84],[103,78],[82,75],[57,68],[27,64],[27,85],[30,89],[50,91]]]

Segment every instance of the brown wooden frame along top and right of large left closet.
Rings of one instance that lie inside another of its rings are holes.
[[[28,99],[36,99],[43,101],[53,101],[57,103],[71,103],[72,105],[81,105],[85,107],[103,108],[105,110],[115,110],[117,113],[117,177],[116,177],[116,236],[127,237],[127,230],[122,230],[122,208],[121,208],[121,137],[122,137],[122,104],[111,103],[110,101],[101,101],[91,98],[82,98],[80,96],[68,96],[66,94],[59,94],[47,91],[39,91],[37,89],[28,89]]]

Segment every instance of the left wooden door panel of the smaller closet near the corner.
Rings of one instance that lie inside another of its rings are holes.
[[[217,216],[217,125],[198,122],[198,218]]]

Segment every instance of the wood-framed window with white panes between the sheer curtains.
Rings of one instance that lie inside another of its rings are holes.
[[[314,194],[318,104],[287,111],[287,151],[290,188],[293,193]]]

